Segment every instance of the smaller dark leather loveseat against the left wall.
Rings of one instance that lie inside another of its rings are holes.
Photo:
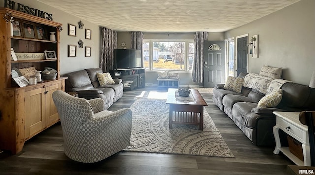
[[[97,72],[102,73],[102,69],[90,68],[63,75],[63,77],[68,77],[65,80],[65,91],[77,92],[78,97],[88,100],[101,98],[105,102],[105,109],[108,109],[123,96],[124,86],[121,79],[113,79],[115,84],[100,86],[96,76]]]

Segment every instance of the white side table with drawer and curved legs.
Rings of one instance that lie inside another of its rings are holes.
[[[273,112],[276,117],[276,125],[273,127],[273,132],[276,141],[274,154],[279,154],[279,151],[284,153],[296,165],[311,166],[310,158],[310,144],[307,126],[299,121],[298,112]],[[289,147],[282,147],[279,138],[279,129],[283,130],[286,134],[302,143],[304,162],[292,154]]]

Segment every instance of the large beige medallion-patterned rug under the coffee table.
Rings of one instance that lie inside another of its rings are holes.
[[[234,157],[204,108],[204,129],[173,124],[164,99],[137,99],[132,105],[131,142],[126,151]]]

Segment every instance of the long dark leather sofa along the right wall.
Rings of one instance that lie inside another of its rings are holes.
[[[217,84],[213,89],[213,102],[230,117],[243,133],[257,146],[275,144],[272,128],[276,124],[273,111],[315,110],[315,89],[288,82],[282,85],[281,102],[274,108],[258,108],[265,95],[254,89],[242,87],[241,93],[223,89]]]

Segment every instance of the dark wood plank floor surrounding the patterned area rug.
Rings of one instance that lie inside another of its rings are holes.
[[[146,87],[125,91],[108,110],[130,105],[142,96],[167,93],[167,89]],[[0,174],[102,174],[102,175],[286,175],[287,165],[294,165],[283,154],[274,155],[274,147],[258,147],[234,122],[212,103],[211,94],[202,94],[208,113],[221,132],[235,158],[119,152],[103,161],[83,164],[70,160],[63,152],[60,123],[36,135],[17,155],[0,153]]]

